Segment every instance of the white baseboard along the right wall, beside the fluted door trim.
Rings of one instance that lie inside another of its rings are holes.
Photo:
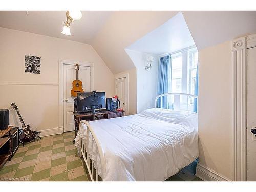
[[[197,164],[196,176],[204,181],[231,181],[225,176],[222,176],[221,174],[215,172],[214,170],[205,167],[199,163]]]

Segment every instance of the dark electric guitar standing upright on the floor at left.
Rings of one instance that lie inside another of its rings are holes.
[[[19,117],[20,122],[22,123],[22,129],[19,129],[19,140],[22,143],[29,143],[35,138],[35,133],[29,129],[29,125],[25,125],[22,116],[20,115],[18,111],[18,107],[15,103],[11,104],[12,109],[14,109]]]

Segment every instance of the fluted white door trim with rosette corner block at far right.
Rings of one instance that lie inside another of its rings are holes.
[[[233,181],[247,180],[247,49],[255,46],[256,34],[232,41]]]

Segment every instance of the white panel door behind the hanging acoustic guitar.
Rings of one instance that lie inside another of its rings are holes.
[[[80,66],[78,71],[78,78],[82,81],[82,88],[84,92],[91,90],[91,76],[90,67]],[[63,114],[64,114],[64,131],[75,130],[74,125],[74,98],[71,96],[72,82],[76,80],[75,65],[63,65]]]

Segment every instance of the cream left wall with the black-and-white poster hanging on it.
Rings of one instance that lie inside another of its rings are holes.
[[[15,102],[33,130],[63,126],[58,124],[58,59],[94,63],[94,89],[114,95],[114,75],[88,44],[6,28],[0,28],[0,42],[0,109]],[[24,72],[25,55],[42,57],[41,74]],[[13,110],[10,124],[19,124]]]

